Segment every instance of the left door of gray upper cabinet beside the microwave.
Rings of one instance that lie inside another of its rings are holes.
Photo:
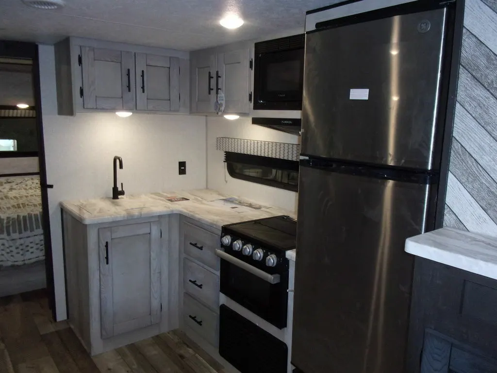
[[[190,57],[191,111],[215,112],[216,53],[207,50],[192,53]]]

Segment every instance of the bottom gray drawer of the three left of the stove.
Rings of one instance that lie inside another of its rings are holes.
[[[183,294],[183,322],[211,345],[218,345],[219,315]]]

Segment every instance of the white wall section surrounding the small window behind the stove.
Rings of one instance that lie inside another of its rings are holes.
[[[224,152],[216,150],[217,137],[235,137],[298,144],[300,138],[281,131],[253,125],[251,118],[228,120],[224,117],[207,118],[207,187],[223,193],[241,196],[261,204],[295,211],[297,193],[275,187],[267,187],[228,175],[224,164]]]

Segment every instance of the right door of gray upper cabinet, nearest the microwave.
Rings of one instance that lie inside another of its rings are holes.
[[[217,86],[226,98],[225,113],[248,113],[248,91],[250,69],[248,68],[249,49],[218,53]]]

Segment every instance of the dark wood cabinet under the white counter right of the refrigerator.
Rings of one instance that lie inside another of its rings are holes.
[[[408,373],[497,372],[497,281],[417,257]]]

